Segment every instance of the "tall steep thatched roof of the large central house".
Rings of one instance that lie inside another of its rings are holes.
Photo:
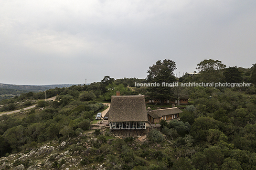
[[[108,122],[148,122],[144,95],[113,95]]]

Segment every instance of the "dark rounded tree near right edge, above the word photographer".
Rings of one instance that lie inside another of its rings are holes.
[[[225,68],[223,75],[227,83],[243,82],[242,73],[236,66]]]

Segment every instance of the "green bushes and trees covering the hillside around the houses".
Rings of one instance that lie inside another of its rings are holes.
[[[236,66],[225,68],[221,61],[204,60],[198,64],[198,70],[198,75],[185,74],[175,81],[202,83],[209,80],[255,85],[255,65],[246,69]],[[58,149],[52,155],[48,154],[48,164],[44,158],[44,169],[67,168],[68,162],[72,162],[67,161],[69,156],[79,160],[76,167],[70,169],[93,170],[99,168],[98,164],[107,170],[256,169],[255,86],[170,87],[176,98],[180,93],[188,94],[191,105],[183,106],[180,121],[162,120],[160,130],[150,129],[147,138],[120,138],[113,136],[108,129],[89,130],[90,125],[97,122],[94,115],[105,107],[99,102],[109,102],[116,91],[120,91],[121,95],[150,95],[147,87],[133,87],[136,92],[127,88],[128,85],[134,86],[135,82],[144,83],[147,80],[114,80],[105,76],[101,82],[90,85],[51,89],[49,96],[57,95],[56,101],[41,100],[35,109],[25,114],[0,116],[0,156],[19,152],[31,154],[31,151],[38,151],[47,143]],[[1,101],[3,106],[0,109],[15,109],[17,102],[28,106],[33,100],[43,98],[43,92],[21,94]],[[67,145],[62,148],[63,142]],[[56,159],[64,152],[66,160]],[[21,161],[11,163],[20,165]],[[3,164],[0,161],[0,166]],[[32,161],[28,160],[23,163],[25,168],[31,164]]]

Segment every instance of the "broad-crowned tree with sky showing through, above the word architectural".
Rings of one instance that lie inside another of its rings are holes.
[[[197,70],[205,83],[220,82],[222,79],[222,70],[226,65],[222,64],[219,60],[203,60],[197,64]]]

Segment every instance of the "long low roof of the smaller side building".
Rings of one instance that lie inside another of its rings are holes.
[[[182,113],[182,111],[178,107],[172,107],[167,109],[151,110],[151,111],[148,111],[147,113],[153,118],[159,118],[166,115]]]

